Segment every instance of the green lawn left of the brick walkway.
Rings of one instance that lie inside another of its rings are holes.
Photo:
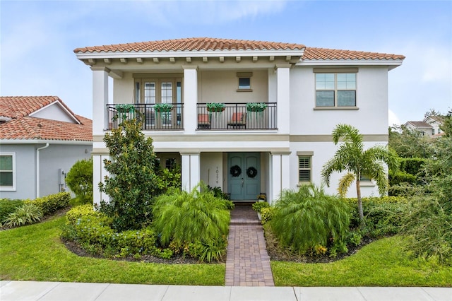
[[[80,257],[59,240],[64,217],[0,232],[0,280],[224,285],[225,264],[146,264]]]

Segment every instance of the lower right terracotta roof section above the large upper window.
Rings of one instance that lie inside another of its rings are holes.
[[[340,50],[340,49],[327,49],[327,48],[315,48],[307,47],[304,50],[302,59],[311,60],[331,60],[331,59],[405,59],[403,55],[399,54],[386,54],[378,52],[361,52],[352,50]]]

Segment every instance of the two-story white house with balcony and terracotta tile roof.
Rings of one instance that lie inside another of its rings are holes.
[[[203,180],[233,201],[265,193],[270,202],[282,189],[321,185],[322,166],[338,148],[331,138],[336,124],[357,127],[366,147],[388,143],[388,71],[405,59],[207,37],[74,52],[93,71],[94,187],[106,174],[105,132],[124,114],[140,112],[161,164],[182,165],[184,189]],[[224,110],[209,112],[212,102],[224,103]],[[254,112],[252,104],[261,102],[265,110]],[[133,104],[134,110],[118,114],[126,107],[121,104]],[[163,112],[161,104],[172,106]],[[328,192],[336,193],[339,178],[333,175]],[[362,186],[364,196],[378,195],[374,183]],[[94,192],[96,203],[107,198]]]

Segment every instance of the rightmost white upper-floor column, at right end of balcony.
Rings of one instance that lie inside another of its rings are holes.
[[[276,65],[278,133],[290,134],[290,64]]]

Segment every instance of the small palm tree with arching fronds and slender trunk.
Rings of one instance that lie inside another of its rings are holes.
[[[383,195],[388,187],[388,177],[384,163],[392,168],[396,165],[396,160],[388,148],[384,146],[373,146],[364,151],[362,134],[359,134],[355,127],[348,124],[338,124],[333,130],[334,144],[337,145],[340,139],[343,143],[338,151],[336,151],[333,158],[323,165],[322,179],[329,187],[330,177],[333,172],[346,171],[347,173],[339,181],[338,193],[340,196],[345,196],[352,182],[356,181],[359,220],[363,223],[361,177],[365,176],[375,180],[380,194]]]

